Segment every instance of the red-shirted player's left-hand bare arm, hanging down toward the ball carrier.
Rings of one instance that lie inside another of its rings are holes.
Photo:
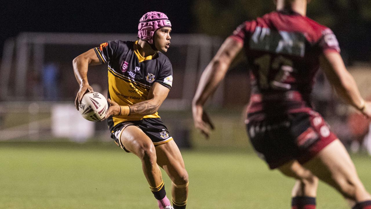
[[[236,39],[227,38],[201,75],[192,102],[192,113],[195,127],[200,129],[206,138],[209,137],[210,128],[213,129],[214,127],[204,112],[203,105],[226,75],[231,62],[242,49],[242,46],[243,44]]]

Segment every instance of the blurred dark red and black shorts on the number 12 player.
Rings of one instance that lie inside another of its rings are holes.
[[[246,131],[257,154],[270,169],[291,160],[304,164],[337,139],[322,116],[314,111],[274,119],[249,119]]]

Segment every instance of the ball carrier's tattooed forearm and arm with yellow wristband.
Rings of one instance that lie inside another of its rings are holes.
[[[154,114],[157,112],[158,108],[160,108],[168,93],[169,89],[167,87],[162,86],[160,83],[154,83],[148,93],[148,100],[143,102],[131,106],[119,106],[116,102],[108,99],[108,103],[111,106],[109,107],[104,120],[110,116],[118,116],[122,114],[128,114],[129,116],[145,116]],[[126,114],[123,108],[128,108]]]

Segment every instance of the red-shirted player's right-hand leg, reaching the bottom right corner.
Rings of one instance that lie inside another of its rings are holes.
[[[354,209],[371,209],[371,196],[359,180],[344,145],[336,139],[303,165],[353,202]]]

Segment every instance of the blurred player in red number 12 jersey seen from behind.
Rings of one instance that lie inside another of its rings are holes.
[[[305,16],[307,0],[276,3],[276,12],[240,25],[206,67],[193,100],[195,126],[209,135],[203,105],[244,48],[252,78],[247,133],[271,169],[297,179],[292,208],[315,208],[319,178],[354,209],[371,209],[347,151],[310,105],[316,71],[321,66],[339,95],[367,117],[371,103],[360,96],[332,31]]]

